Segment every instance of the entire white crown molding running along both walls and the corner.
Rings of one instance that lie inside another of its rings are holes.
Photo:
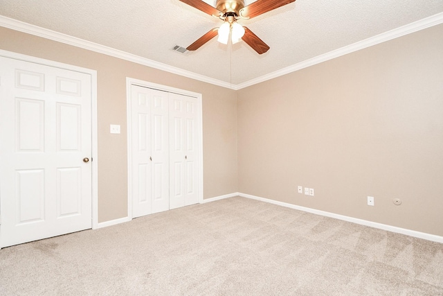
[[[381,33],[374,37],[369,37],[368,39],[356,42],[354,44],[350,44],[347,46],[343,46],[341,49],[336,49],[334,51],[329,51],[329,53],[325,53],[323,55],[318,55],[309,60],[305,60],[299,62],[298,64],[293,64],[292,66],[280,69],[278,71],[273,71],[264,76],[260,76],[258,78],[254,78],[252,80],[248,80],[246,82],[239,83],[238,85],[231,85],[229,82],[224,82],[221,80],[217,80],[214,78],[210,78],[208,76],[204,76],[201,74],[197,74],[191,71],[187,71],[184,69],[180,69],[177,67],[172,67],[168,64],[163,64],[161,62],[156,62],[154,60],[149,60],[147,58],[142,58],[138,55],[133,55],[131,53],[126,53],[125,51],[119,51],[118,49],[112,49],[111,47],[100,45],[94,42],[89,42],[87,40],[82,40],[77,37],[73,37],[70,35],[66,35],[63,33],[58,33],[56,31],[48,30],[46,28],[42,28],[39,26],[34,26],[31,24],[27,24],[23,21],[17,21],[16,19],[11,19],[9,17],[3,17],[0,15],[0,26],[5,28],[10,28],[15,31],[20,31],[23,33],[28,33],[31,35],[36,35],[39,37],[44,37],[49,40],[54,40],[57,42],[62,42],[64,44],[69,44],[72,46],[77,46],[82,49],[87,49],[89,51],[95,51],[97,53],[103,53],[105,55],[113,56],[114,58],[120,58],[123,60],[127,60],[129,62],[135,62],[137,64],[143,64],[147,67],[152,67],[154,69],[159,69],[162,71],[174,73],[180,76],[184,76],[187,78],[199,80],[202,82],[207,82],[212,85],[217,85],[220,87],[226,87],[228,89],[239,90],[245,87],[249,87],[251,85],[256,85],[257,83],[264,82],[266,80],[271,80],[273,78],[277,78],[288,73],[292,73],[310,66],[314,64],[320,64],[320,62],[326,62],[327,60],[332,60],[334,58],[338,58],[341,55],[346,55],[347,53],[352,53],[354,51],[359,51],[361,49],[365,49],[367,47],[386,42],[388,40],[392,40],[404,35],[408,35],[410,33],[414,33],[416,31],[423,30],[425,28],[429,28],[431,26],[436,26],[438,24],[443,23],[443,12],[437,13],[437,15],[433,15],[431,17],[426,17],[425,19],[421,19],[419,21],[415,21],[413,23],[407,24],[405,26],[401,26],[399,28],[395,28],[386,33]]]

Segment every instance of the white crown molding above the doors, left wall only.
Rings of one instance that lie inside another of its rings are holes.
[[[20,31],[23,33],[28,33],[31,35],[44,37],[49,40],[54,40],[64,44],[69,44],[72,46],[80,47],[81,49],[87,49],[89,51],[95,51],[97,53],[103,53],[105,55],[110,55],[114,58],[120,58],[122,60],[127,60],[129,62],[135,62],[137,64],[143,64],[147,67],[152,67],[154,69],[159,69],[162,71],[174,73],[187,78],[192,78],[202,82],[208,82],[213,85],[218,85],[221,87],[232,88],[229,82],[224,82],[208,76],[197,74],[191,71],[186,71],[177,67],[172,67],[168,64],[163,64],[161,62],[156,62],[147,58],[142,58],[138,55],[133,55],[132,53],[127,53],[125,51],[119,51],[118,49],[113,49],[109,46],[104,46],[94,42],[89,42],[87,40],[82,40],[78,37],[73,37],[56,31],[48,30],[39,26],[25,23],[23,21],[17,21],[17,19],[11,19],[10,17],[3,17],[0,15],[0,26],[5,28],[10,28],[15,31]]]

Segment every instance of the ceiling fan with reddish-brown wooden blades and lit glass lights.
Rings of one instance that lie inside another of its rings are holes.
[[[287,5],[296,0],[257,0],[248,6],[244,6],[244,0],[217,0],[215,7],[201,0],[180,1],[224,21],[219,28],[213,28],[188,46],[186,48],[188,51],[199,49],[200,46],[213,39],[215,35],[219,35],[218,41],[223,44],[228,44],[230,36],[233,44],[243,40],[261,55],[269,50],[269,46],[251,30],[238,24],[237,20],[257,17],[257,15],[262,15],[264,12]]]

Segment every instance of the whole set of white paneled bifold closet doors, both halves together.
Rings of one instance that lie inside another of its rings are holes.
[[[196,98],[130,87],[132,217],[197,203]]]

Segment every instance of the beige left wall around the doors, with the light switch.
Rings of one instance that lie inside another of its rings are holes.
[[[238,191],[235,91],[3,27],[0,49],[97,71],[99,222],[127,216],[126,77],[203,95],[204,198]]]

